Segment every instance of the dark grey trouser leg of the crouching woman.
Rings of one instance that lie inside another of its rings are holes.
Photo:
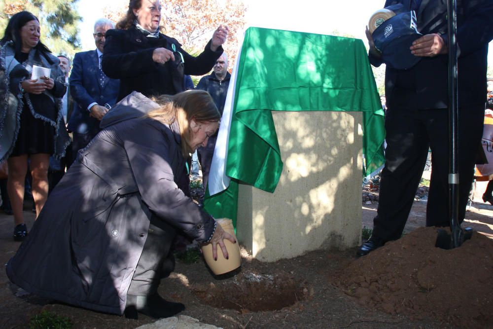
[[[161,279],[168,277],[175,269],[171,248],[175,236],[176,229],[173,226],[151,217],[147,239],[127,294],[147,296],[157,293]]]

